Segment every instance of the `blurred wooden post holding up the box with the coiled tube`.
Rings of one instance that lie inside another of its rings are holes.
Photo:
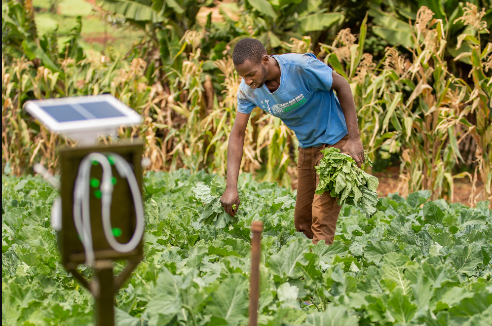
[[[99,260],[94,263],[94,317],[96,326],[114,326],[113,261]]]

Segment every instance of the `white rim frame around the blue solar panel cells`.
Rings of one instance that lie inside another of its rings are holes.
[[[57,119],[49,114],[43,107],[70,105],[72,108],[80,104],[107,102],[112,107],[123,114],[118,117],[107,118],[90,118],[83,120],[72,121],[57,121]],[[39,121],[41,121],[48,129],[59,133],[83,133],[105,131],[108,128],[117,128],[120,126],[129,126],[139,124],[142,121],[142,116],[133,109],[130,109],[121,101],[112,95],[93,95],[93,96],[75,96],[60,99],[45,99],[37,101],[28,101],[25,104],[26,111],[31,113]]]

